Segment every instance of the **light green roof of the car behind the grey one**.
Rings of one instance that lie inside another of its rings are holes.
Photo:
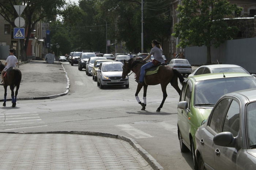
[[[223,77],[223,73],[211,73],[211,74],[200,74],[188,77],[187,79],[193,79],[194,82],[202,81],[202,80],[210,80],[210,79],[219,79],[219,78],[231,78],[231,77],[253,77],[247,73],[240,72],[225,72],[225,77]]]

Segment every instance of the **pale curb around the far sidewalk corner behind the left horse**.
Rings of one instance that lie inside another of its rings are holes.
[[[61,94],[57,94],[57,95],[50,95],[50,96],[41,96],[41,97],[26,97],[26,98],[17,98],[17,100],[42,100],[42,99],[53,99],[53,98],[57,98],[59,96],[64,96],[66,94],[68,94],[69,92],[69,87],[70,87],[70,82],[69,82],[69,78],[68,78],[68,74],[65,70],[65,68],[63,67],[63,65],[61,64],[64,72],[65,72],[65,76],[67,78],[67,87],[66,87],[66,91],[64,93]],[[4,99],[0,99],[0,102],[3,102]],[[6,101],[12,101],[11,98],[6,99]]]

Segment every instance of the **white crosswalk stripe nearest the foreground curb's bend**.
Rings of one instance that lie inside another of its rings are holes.
[[[115,125],[117,126],[119,129],[125,131],[126,133],[132,135],[133,137],[139,139],[139,138],[152,138],[153,136],[151,136],[150,134],[144,133],[143,131],[136,129],[134,127],[132,127],[129,124],[118,124]]]

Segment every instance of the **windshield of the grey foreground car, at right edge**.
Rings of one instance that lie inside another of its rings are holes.
[[[248,142],[251,149],[256,148],[256,102],[249,103],[246,108]]]

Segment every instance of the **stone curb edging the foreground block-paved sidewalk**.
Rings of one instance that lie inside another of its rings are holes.
[[[0,132],[0,133],[9,133],[9,134],[76,134],[76,135],[94,135],[99,137],[108,137],[120,139],[128,142],[138,153],[147,161],[147,163],[154,170],[164,170],[163,167],[146,151],[144,150],[138,142],[136,142],[132,138],[128,138],[122,135],[115,135],[109,133],[101,133],[101,132],[91,132],[91,131],[50,131],[50,132]]]

